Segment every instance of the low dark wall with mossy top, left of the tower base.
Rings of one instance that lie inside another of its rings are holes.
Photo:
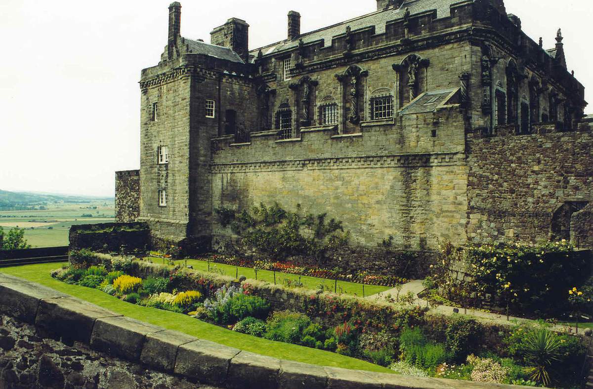
[[[145,250],[151,237],[145,223],[101,223],[73,225],[69,233],[70,249],[95,251]]]

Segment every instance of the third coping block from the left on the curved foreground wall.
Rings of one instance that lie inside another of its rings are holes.
[[[164,330],[129,317],[100,318],[95,322],[91,347],[130,361],[138,361],[146,334]]]

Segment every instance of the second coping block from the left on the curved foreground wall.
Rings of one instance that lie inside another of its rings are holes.
[[[40,301],[35,324],[44,336],[88,345],[95,320],[115,316],[121,315],[77,298],[51,298]]]

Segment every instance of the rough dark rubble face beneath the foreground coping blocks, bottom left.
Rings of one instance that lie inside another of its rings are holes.
[[[36,328],[0,315],[0,388],[195,388],[172,374],[144,369],[76,343],[37,336]]]

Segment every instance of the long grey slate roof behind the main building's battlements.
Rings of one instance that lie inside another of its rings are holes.
[[[410,9],[410,14],[412,15],[436,9],[436,17],[445,18],[451,16],[451,11],[449,11],[451,5],[466,1],[473,2],[474,0],[406,0],[403,2],[400,8],[388,8],[381,11],[375,11],[371,14],[366,14],[361,17],[343,21],[342,23],[321,28],[320,30],[301,34],[299,39],[302,39],[305,44],[323,39],[325,46],[330,46],[331,38],[340,34],[344,34],[348,25],[350,28],[352,28],[352,31],[374,26],[375,33],[382,34],[385,32],[385,24],[388,21],[397,20],[404,17],[406,8]],[[298,46],[298,39],[292,41],[284,40],[282,42],[264,46],[261,48],[261,50],[263,54],[266,55],[279,52],[281,50],[291,49],[292,47],[296,46]],[[251,50],[250,53],[251,55],[257,55],[259,50],[260,49]]]

